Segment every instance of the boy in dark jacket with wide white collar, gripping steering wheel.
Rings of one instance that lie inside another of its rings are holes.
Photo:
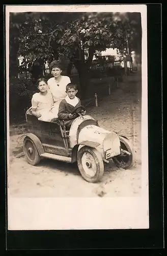
[[[71,114],[71,112],[81,105],[80,99],[75,96],[77,92],[78,91],[77,91],[76,84],[68,83],[66,86],[67,96],[65,97],[65,99],[63,99],[60,102],[60,105],[59,105],[58,117],[60,119],[65,120],[64,124],[66,127],[70,127],[74,119],[77,117],[77,115]],[[86,111],[82,113],[82,115],[85,115],[85,114],[86,114]]]

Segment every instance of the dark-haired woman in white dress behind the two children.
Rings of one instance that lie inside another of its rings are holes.
[[[59,104],[62,99],[67,96],[66,86],[71,81],[68,76],[61,75],[63,68],[62,64],[59,61],[52,61],[49,68],[53,77],[50,78],[47,83],[48,88],[53,95],[54,103],[52,106],[52,113],[54,113],[54,116],[57,117],[59,112]]]

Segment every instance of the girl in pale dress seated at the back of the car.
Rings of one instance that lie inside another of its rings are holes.
[[[50,122],[54,118],[51,111],[53,106],[53,96],[48,90],[47,80],[40,78],[37,81],[39,93],[35,93],[32,97],[32,114],[41,121]]]

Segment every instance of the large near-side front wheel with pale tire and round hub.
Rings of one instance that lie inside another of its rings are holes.
[[[77,164],[81,176],[88,182],[98,182],[104,174],[104,164],[96,148],[83,146],[77,153]]]

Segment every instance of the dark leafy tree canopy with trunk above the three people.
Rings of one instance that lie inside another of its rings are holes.
[[[141,51],[140,13],[18,13],[11,15],[11,26],[17,28],[17,33],[11,30],[17,41],[15,54],[19,43],[17,55],[24,56],[26,64],[66,56],[70,60],[67,71],[74,64],[83,94],[89,88],[89,69],[96,50]],[[89,53],[87,60],[85,51]]]

